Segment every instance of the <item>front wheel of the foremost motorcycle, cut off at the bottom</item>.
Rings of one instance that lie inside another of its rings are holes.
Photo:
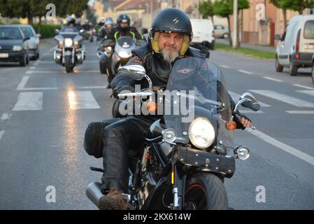
[[[187,180],[185,207],[187,210],[227,210],[228,197],[222,180],[211,173],[199,173]]]

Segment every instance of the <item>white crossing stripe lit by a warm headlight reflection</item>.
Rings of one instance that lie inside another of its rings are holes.
[[[100,109],[91,91],[69,91],[68,99],[71,110]]]

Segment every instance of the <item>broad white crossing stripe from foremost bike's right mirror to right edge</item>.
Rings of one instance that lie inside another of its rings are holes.
[[[281,94],[279,92],[274,92],[271,90],[249,90],[251,92],[256,92],[257,94],[264,95],[266,97],[276,99],[278,101],[284,102],[286,104],[290,104],[298,107],[314,107],[313,103],[306,102],[305,100],[298,99],[295,97],[291,97],[285,94]]]

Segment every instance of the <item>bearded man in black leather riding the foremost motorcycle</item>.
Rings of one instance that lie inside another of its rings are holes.
[[[176,8],[167,8],[157,14],[152,22],[148,44],[134,50],[134,57],[128,64],[141,64],[145,67],[153,86],[166,87],[176,60],[182,57],[205,59],[204,55],[189,47],[191,39],[192,25],[187,15]],[[115,96],[122,90],[134,92],[134,80],[119,73],[111,85]],[[231,97],[230,103],[235,106]],[[241,117],[235,120],[237,127],[242,129],[250,127],[250,120],[245,116]],[[141,149],[153,121],[155,120],[152,116],[129,116],[104,128],[102,153],[104,176],[101,178],[101,191],[105,196],[99,200],[99,209],[127,208],[121,193],[128,192],[128,157],[136,156]]]

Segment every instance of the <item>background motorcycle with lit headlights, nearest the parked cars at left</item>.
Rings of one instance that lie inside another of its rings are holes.
[[[82,64],[85,59],[85,46],[82,45],[83,36],[76,28],[64,27],[55,30],[57,47],[53,58],[57,64],[65,66],[66,72],[73,71],[74,66]]]

